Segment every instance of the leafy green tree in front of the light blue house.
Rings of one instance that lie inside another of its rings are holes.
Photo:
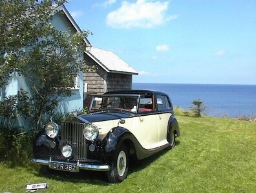
[[[48,21],[56,14],[52,6],[65,0],[0,1],[0,87],[15,71],[31,86],[29,96],[32,122],[41,127],[42,116],[72,95],[70,86],[81,70],[83,31],[70,35],[59,32]]]

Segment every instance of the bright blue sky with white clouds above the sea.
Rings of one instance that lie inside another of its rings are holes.
[[[139,72],[133,82],[256,84],[255,0],[71,0],[92,46]]]

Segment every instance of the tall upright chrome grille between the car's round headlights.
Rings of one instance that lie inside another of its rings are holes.
[[[75,160],[86,159],[86,140],[83,136],[84,123],[61,124],[61,147],[71,145]]]

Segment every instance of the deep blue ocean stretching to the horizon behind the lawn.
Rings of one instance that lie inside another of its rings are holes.
[[[193,106],[193,100],[202,100],[207,107],[204,113],[209,116],[256,115],[256,85],[133,83],[133,89],[164,91],[173,106],[182,109]]]

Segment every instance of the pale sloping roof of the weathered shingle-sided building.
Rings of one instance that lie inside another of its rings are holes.
[[[135,69],[120,59],[120,57],[115,55],[112,51],[101,50],[100,48],[92,46],[91,51],[85,53],[108,73],[138,75],[138,72]]]

